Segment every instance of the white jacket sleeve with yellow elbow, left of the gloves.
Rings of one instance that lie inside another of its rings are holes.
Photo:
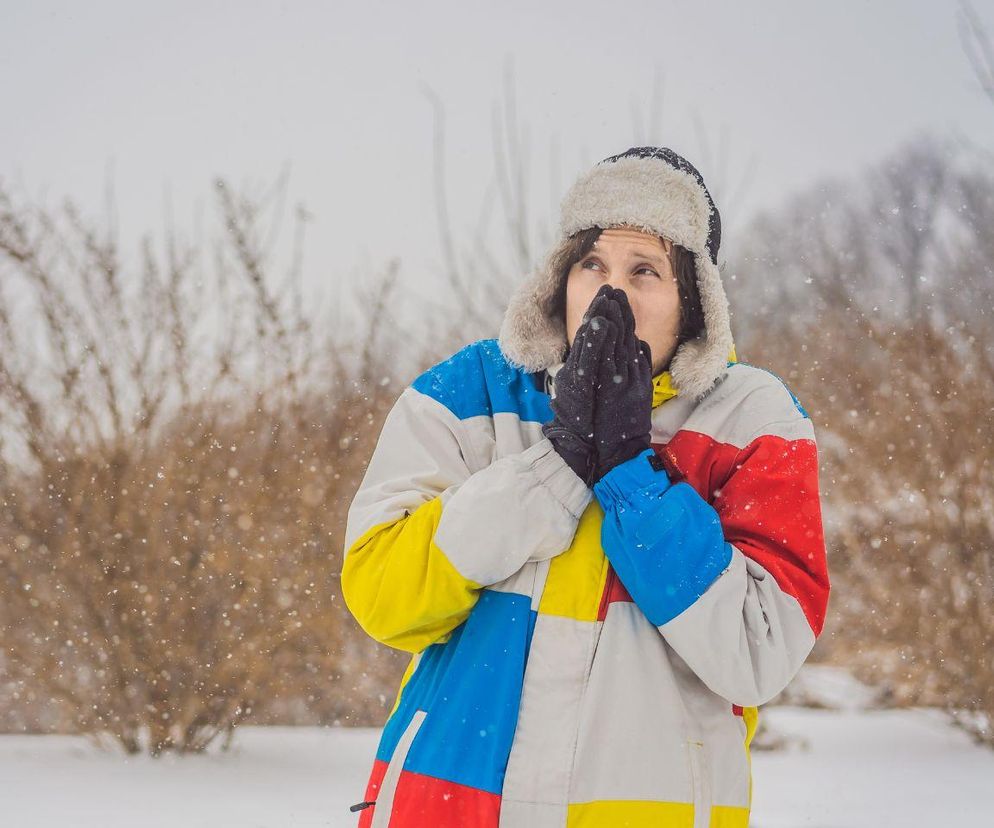
[[[460,419],[447,400],[404,389],[346,522],[349,611],[412,653],[462,623],[481,588],[567,549],[593,497],[544,437],[483,465],[481,418]]]

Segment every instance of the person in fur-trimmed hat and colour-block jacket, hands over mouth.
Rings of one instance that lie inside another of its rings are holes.
[[[814,431],[736,360],[700,173],[611,156],[560,229],[349,510],[346,603],[413,653],[361,826],[745,826],[757,707],[821,632]]]

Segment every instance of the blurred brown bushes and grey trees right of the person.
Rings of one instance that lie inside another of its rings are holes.
[[[868,172],[757,219],[737,342],[819,435],[820,657],[994,744],[994,175],[926,136]]]

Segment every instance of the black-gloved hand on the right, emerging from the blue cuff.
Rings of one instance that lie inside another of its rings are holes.
[[[652,431],[652,354],[635,335],[635,314],[623,290],[604,285],[588,313],[607,328],[597,372],[593,479],[649,448]]]

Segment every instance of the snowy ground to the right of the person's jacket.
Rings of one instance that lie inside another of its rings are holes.
[[[807,749],[753,753],[754,828],[992,824],[994,751],[936,710],[760,708]]]

